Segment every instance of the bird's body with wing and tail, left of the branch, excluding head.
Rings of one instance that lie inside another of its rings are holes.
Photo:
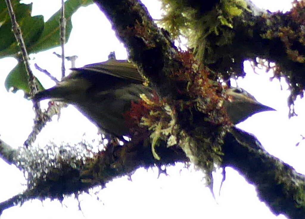
[[[131,101],[140,99],[140,94],[152,95],[152,89],[142,84],[142,76],[131,63],[126,60],[115,62],[123,66],[114,69],[111,60],[110,65],[108,61],[71,69],[70,75],[56,86],[38,92],[34,99],[73,104],[100,129],[115,136],[127,135],[129,129],[123,112],[130,109]]]

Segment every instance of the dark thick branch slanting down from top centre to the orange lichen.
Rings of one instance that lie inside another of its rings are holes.
[[[170,94],[175,99],[170,75],[179,71],[180,62],[167,33],[152,21],[145,6],[138,0],[94,0],[112,23],[116,34],[127,47],[129,58],[140,72],[145,72],[161,96]],[[143,70],[143,71],[142,71]]]

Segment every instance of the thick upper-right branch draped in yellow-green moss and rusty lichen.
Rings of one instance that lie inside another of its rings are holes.
[[[208,5],[199,0],[163,2],[166,15],[162,24],[175,37],[188,38],[200,62],[216,73],[214,79],[244,76],[243,62],[250,59],[257,66],[260,57],[275,62],[274,68],[264,67],[288,82],[292,92],[289,106],[297,95],[303,97],[304,0],[293,1],[292,10],[285,14],[258,9],[250,0],[209,1]]]

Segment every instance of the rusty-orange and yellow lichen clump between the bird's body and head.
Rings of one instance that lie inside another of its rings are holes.
[[[179,98],[172,100],[159,98],[156,93],[152,97],[143,94],[142,100],[133,102],[130,110],[124,114],[132,133],[146,132],[148,127],[152,150],[158,139],[165,140],[179,133],[178,118],[193,123],[192,113],[195,111],[202,113],[202,122],[211,122],[217,127],[230,124],[222,106],[226,98],[223,88],[219,82],[209,79],[215,78],[215,73],[207,67],[200,67],[190,51],[179,52],[178,55],[182,67],[171,73],[171,80],[178,85],[176,92]],[[158,156],[155,154],[155,157]]]

